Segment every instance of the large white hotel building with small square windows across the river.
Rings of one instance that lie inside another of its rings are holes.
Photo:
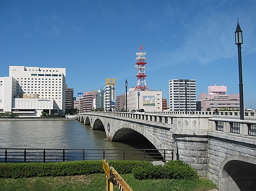
[[[0,112],[63,114],[65,76],[65,68],[10,66],[9,77],[0,77]]]

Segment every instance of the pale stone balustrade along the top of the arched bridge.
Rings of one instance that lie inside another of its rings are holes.
[[[237,113],[239,114],[239,112],[222,112],[222,115],[214,115],[213,112],[193,112],[193,114],[183,113],[184,112],[89,112],[81,113],[79,115],[97,114],[100,116],[112,116],[118,118],[129,118],[130,120],[140,120],[150,124],[157,123],[160,126],[170,128],[171,131],[174,131],[173,133],[180,134],[194,134],[196,132],[207,134],[207,132],[210,131],[217,131],[217,133],[233,133],[234,135],[249,135],[252,138],[256,137],[255,112],[247,112],[247,115],[245,115],[245,120],[239,119],[237,116]],[[250,116],[248,116],[249,114]],[[181,131],[183,131],[183,133],[181,133]]]

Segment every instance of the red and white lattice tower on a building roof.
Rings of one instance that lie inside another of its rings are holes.
[[[146,70],[146,52],[142,52],[142,45],[139,46],[139,52],[136,53],[136,69],[138,70],[138,74],[136,75],[136,77],[138,78],[137,81],[137,86],[135,88],[135,90],[148,90],[147,88],[147,84],[146,84],[146,74],[145,74],[145,70]]]

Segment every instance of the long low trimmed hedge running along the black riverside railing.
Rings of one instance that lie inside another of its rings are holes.
[[[110,160],[118,173],[131,173],[135,167],[147,168],[152,163],[134,160]],[[71,176],[104,173],[102,161],[74,161],[59,163],[0,163],[0,177],[19,178],[32,176]]]

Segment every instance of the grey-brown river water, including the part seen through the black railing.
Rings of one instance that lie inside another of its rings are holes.
[[[24,149],[27,152],[34,152],[37,149],[77,149],[77,150],[112,150],[106,151],[106,157],[113,160],[128,159],[148,160],[159,159],[159,153],[152,154],[152,151],[143,150],[123,151],[135,148],[152,148],[148,141],[131,142],[111,142],[105,141],[105,131],[92,130],[90,126],[84,125],[75,120],[48,120],[48,121],[0,121],[0,162],[6,161],[6,150],[8,150],[7,161],[16,162],[14,155],[20,155],[19,160],[24,162]],[[22,148],[21,150],[11,150],[11,148]],[[30,148],[30,150],[29,150]],[[33,150],[31,150],[31,148]],[[121,151],[122,150],[122,151]],[[39,151],[39,150],[38,150]],[[41,152],[42,154],[42,151]],[[17,154],[19,152],[19,154]],[[36,152],[36,151],[35,151]],[[58,151],[60,152],[60,151]],[[62,151],[61,151],[62,152]],[[67,151],[69,152],[69,151]],[[72,152],[72,151],[70,151]],[[99,155],[90,154],[94,151],[85,151],[87,158],[97,159]],[[103,152],[103,151],[95,151]],[[110,152],[112,154],[109,154]],[[153,151],[157,152],[157,151]],[[85,154],[85,155],[86,155]],[[31,154],[33,155],[33,154]],[[59,154],[57,154],[59,155]],[[42,156],[42,155],[41,155]],[[102,157],[102,154],[100,154]],[[71,160],[81,160],[81,151],[78,156],[69,154]],[[134,158],[135,157],[135,158]],[[78,159],[79,158],[79,159]],[[161,157],[160,157],[161,158]],[[42,159],[42,157],[40,157]],[[33,159],[34,160],[34,159]],[[33,161],[31,160],[31,162]],[[62,160],[62,159],[61,159]],[[66,159],[67,160],[67,159]]]

